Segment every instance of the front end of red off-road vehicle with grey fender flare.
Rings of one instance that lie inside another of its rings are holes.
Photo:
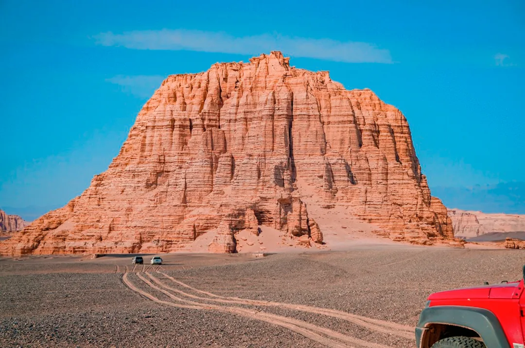
[[[525,266],[523,267],[525,278]],[[419,316],[417,348],[524,348],[523,279],[433,293]]]

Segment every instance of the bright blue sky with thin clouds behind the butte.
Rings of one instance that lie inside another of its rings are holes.
[[[400,108],[449,208],[525,213],[525,3],[326,4],[0,1],[0,207],[80,194],[167,75],[278,49]]]

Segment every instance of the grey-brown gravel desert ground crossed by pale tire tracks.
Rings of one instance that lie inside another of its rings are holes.
[[[414,347],[435,291],[520,278],[514,250],[0,259],[2,347]]]

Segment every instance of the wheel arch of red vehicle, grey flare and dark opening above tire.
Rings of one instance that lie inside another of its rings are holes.
[[[510,348],[498,318],[487,309],[459,306],[428,307],[416,328],[418,348],[430,348],[450,336],[480,338],[490,348]]]

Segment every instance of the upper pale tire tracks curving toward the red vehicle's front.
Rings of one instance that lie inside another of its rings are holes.
[[[206,300],[206,301],[214,301],[214,302],[223,302],[223,303],[249,304],[252,306],[284,307],[284,308],[289,308],[293,310],[299,310],[303,312],[310,312],[310,313],[316,313],[316,314],[323,314],[325,316],[343,319],[353,324],[360,325],[361,327],[364,327],[366,329],[376,331],[376,332],[391,334],[391,335],[395,335],[395,336],[406,338],[406,339],[414,338],[414,329],[407,325],[401,325],[401,324],[396,324],[396,323],[392,323],[389,321],[362,317],[356,314],[351,314],[351,313],[347,313],[347,312],[343,312],[339,310],[311,307],[311,306],[306,306],[302,304],[291,304],[291,303],[281,303],[281,302],[272,302],[272,301],[259,301],[259,300],[243,299],[243,298],[238,298],[238,297],[219,296],[211,292],[193,288],[189,285],[184,284],[181,281],[174,279],[173,277],[170,277],[169,275],[165,273],[160,272],[160,274],[172,280],[178,285],[184,286],[186,288],[190,288],[196,292],[204,293],[204,295],[213,297],[213,298],[207,299],[207,298],[191,295],[190,293],[186,293],[181,290],[172,289],[172,291],[175,291],[177,293],[180,293],[180,295],[187,296],[190,298]],[[148,276],[152,277],[151,275],[148,275]]]

